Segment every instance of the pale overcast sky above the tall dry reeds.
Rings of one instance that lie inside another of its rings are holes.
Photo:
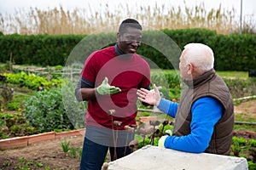
[[[158,5],[173,5],[174,7],[183,7],[183,0],[0,0],[0,13],[1,14],[14,14],[15,10],[29,10],[29,8],[48,9],[60,7],[64,9],[73,10],[74,8],[92,8],[93,10],[101,10],[101,5],[104,7],[108,4],[108,8],[118,8],[119,4],[128,4],[129,6],[146,6],[155,3]],[[236,15],[239,20],[241,0],[185,0],[186,7],[192,8],[193,6],[204,3],[208,9],[218,8],[221,3],[222,8],[231,10],[235,8]],[[256,18],[256,0],[242,0],[242,15],[252,16]],[[256,19],[255,19],[256,20]]]

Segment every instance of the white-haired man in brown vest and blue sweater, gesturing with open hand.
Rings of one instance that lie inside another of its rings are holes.
[[[162,99],[154,90],[141,88],[138,99],[175,117],[172,136],[162,136],[159,145],[191,153],[230,156],[234,105],[229,88],[213,69],[214,55],[205,44],[189,43],[180,56],[179,69],[186,88],[180,103]]]

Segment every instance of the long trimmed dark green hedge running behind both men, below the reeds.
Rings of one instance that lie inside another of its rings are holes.
[[[86,36],[0,36],[0,62],[5,63],[12,54],[18,65],[65,65],[70,54],[76,56],[76,59],[84,59],[93,50],[115,42],[113,34],[88,36],[90,44],[88,41],[84,42],[88,48],[81,50],[84,37]],[[101,47],[99,42],[102,42]],[[150,64],[152,68],[155,65],[161,69],[178,68],[180,52],[189,42],[201,42],[211,47],[215,54],[215,68],[218,71],[255,69],[256,37],[248,34],[220,35],[216,31],[206,29],[143,31],[143,43],[138,54],[153,61],[154,65]],[[80,50],[78,52],[73,48]]]

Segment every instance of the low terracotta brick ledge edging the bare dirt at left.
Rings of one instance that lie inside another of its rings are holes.
[[[34,144],[34,143],[38,143],[45,140],[61,139],[67,136],[80,136],[80,135],[84,135],[84,133],[85,133],[85,128],[82,128],[78,130],[61,132],[61,133],[49,132],[49,133],[33,134],[30,136],[15,137],[11,139],[1,139],[0,150],[26,147],[29,144]]]

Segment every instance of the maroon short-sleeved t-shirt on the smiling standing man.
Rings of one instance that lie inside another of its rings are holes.
[[[114,46],[104,48],[90,54],[81,75],[95,82],[95,87],[108,77],[111,86],[121,89],[118,94],[97,95],[96,99],[88,101],[86,125],[111,128],[111,116],[107,113],[109,110],[116,111],[113,121],[123,123],[119,129],[136,123],[137,89],[148,88],[150,83],[150,68],[142,57],[132,54],[124,58],[115,54]]]

